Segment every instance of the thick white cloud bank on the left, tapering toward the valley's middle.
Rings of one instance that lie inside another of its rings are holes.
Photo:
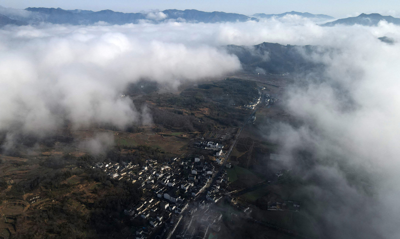
[[[127,26],[42,25],[0,31],[0,129],[30,133],[109,123],[138,122],[129,82],[180,82],[240,69],[235,56],[215,47],[143,40]]]

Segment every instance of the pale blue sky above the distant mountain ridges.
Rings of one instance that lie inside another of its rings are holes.
[[[87,10],[111,9],[122,12],[176,8],[236,12],[247,15],[294,10],[328,14],[334,17],[353,16],[362,12],[378,12],[395,16],[400,13],[400,5],[394,0],[0,0],[0,5],[12,8],[41,6]]]

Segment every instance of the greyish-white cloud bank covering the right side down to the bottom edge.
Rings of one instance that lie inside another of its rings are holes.
[[[400,28],[312,28],[316,38],[294,38],[335,50],[312,55],[326,65],[323,74],[303,76],[286,92],[286,110],[303,125],[278,124],[271,137],[322,162],[303,169],[310,185],[301,190],[324,220],[324,237],[399,238],[400,46],[377,37],[398,39]]]

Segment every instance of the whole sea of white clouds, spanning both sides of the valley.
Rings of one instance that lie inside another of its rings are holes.
[[[319,78],[301,75],[302,84],[285,92],[285,110],[302,125],[278,123],[266,137],[281,142],[286,152],[304,148],[319,160],[304,168],[302,180],[309,184],[301,190],[311,195],[324,238],[398,239],[400,46],[378,40],[381,36],[398,41],[400,27],[386,22],[321,27],[298,17],[5,26],[0,29],[0,130],[42,135],[65,122],[121,129],[140,123],[141,110],[120,97],[128,83],[150,79],[176,88],[239,71],[238,58],[221,48],[228,44],[335,49],[307,56],[325,70]],[[368,180],[349,180],[350,169]]]

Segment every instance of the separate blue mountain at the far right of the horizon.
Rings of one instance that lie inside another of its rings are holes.
[[[341,18],[335,21],[327,22],[325,24],[322,24],[322,26],[334,26],[336,24],[343,24],[343,25],[359,24],[364,26],[374,26],[377,25],[378,22],[381,20],[385,20],[388,23],[393,23],[396,25],[400,24],[400,18],[395,18],[392,16],[382,16],[378,13],[371,13],[371,14],[361,13],[360,15],[355,17]]]

